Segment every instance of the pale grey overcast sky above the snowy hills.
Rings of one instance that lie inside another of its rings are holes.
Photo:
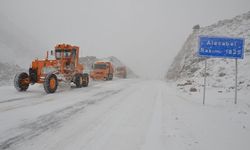
[[[0,2],[1,14],[44,44],[39,54],[57,43],[75,44],[82,56],[116,56],[140,76],[154,78],[165,75],[193,25],[249,10],[250,0]]]

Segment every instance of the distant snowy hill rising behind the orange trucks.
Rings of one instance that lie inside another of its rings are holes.
[[[86,56],[86,57],[81,57],[79,61],[81,64],[85,65],[86,72],[88,72],[88,73],[90,72],[92,65],[96,61],[110,61],[110,62],[112,62],[112,64],[114,65],[115,68],[126,66],[124,63],[122,63],[118,58],[116,58],[114,56],[110,56],[107,58],[97,58],[95,56]],[[128,66],[126,66],[126,68],[127,68],[127,77],[128,78],[137,78],[138,77]]]

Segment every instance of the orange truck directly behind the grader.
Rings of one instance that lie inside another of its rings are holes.
[[[95,62],[92,66],[90,77],[93,80],[112,80],[114,69],[111,62]]]

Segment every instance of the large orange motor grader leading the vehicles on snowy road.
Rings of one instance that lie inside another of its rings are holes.
[[[83,73],[84,66],[79,64],[79,47],[68,44],[59,44],[50,52],[52,60],[48,59],[49,53],[43,60],[34,60],[29,68],[29,73],[18,73],[14,79],[18,91],[26,91],[30,84],[43,84],[46,93],[54,93],[58,83],[73,82],[76,87],[86,87],[89,75]]]

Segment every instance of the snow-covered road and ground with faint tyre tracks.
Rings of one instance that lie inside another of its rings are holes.
[[[0,149],[249,150],[249,92],[208,88],[185,93],[175,84],[124,79],[87,88],[0,87]]]

